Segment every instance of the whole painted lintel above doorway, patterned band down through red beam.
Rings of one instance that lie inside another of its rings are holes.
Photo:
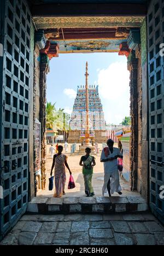
[[[143,16],[33,16],[38,32],[50,42],[44,49],[50,59],[59,53],[116,52],[128,56],[130,30],[139,30],[143,21]]]

